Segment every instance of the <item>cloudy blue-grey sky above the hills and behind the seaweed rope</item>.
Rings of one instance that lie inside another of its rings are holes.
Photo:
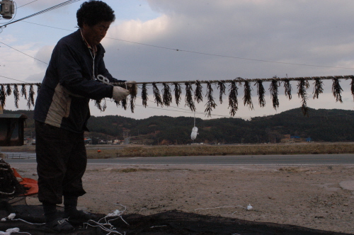
[[[64,0],[15,2],[18,8],[14,18],[20,19]],[[76,11],[83,2],[77,1],[2,28],[0,84],[41,82],[57,41],[77,29]],[[116,79],[205,81],[354,74],[354,1],[351,0],[105,2],[115,11],[116,20],[101,43],[106,51],[105,65]],[[0,26],[9,22],[2,19]],[[333,97],[331,81],[324,84],[324,93],[313,99],[313,81],[310,81],[307,90],[309,108],[353,110],[349,80],[341,80],[343,103],[336,102]],[[301,107],[296,81],[292,82],[291,101],[280,88],[277,110],[273,108],[268,91],[270,83],[265,82],[263,86],[267,93],[265,107],[261,108],[256,86],[252,84],[253,110],[243,105],[243,87],[239,88],[240,105],[235,117],[247,119],[274,115]],[[178,107],[174,102],[171,107],[158,107],[152,97],[152,88],[149,89],[147,108],[142,107],[139,97],[135,113],[117,108],[107,99],[105,112],[91,102],[91,115],[122,115],[135,119],[154,115],[195,115],[202,119],[230,117],[227,96],[220,104],[218,93],[215,87],[217,108],[211,117],[204,113],[206,98],[196,104],[194,114],[184,103]],[[16,110],[11,99],[12,96],[7,98],[5,108]],[[19,104],[20,109],[26,109],[23,98]]]

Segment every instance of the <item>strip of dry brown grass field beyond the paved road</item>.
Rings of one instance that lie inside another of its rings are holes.
[[[88,145],[89,159],[134,156],[222,156],[268,154],[353,154],[354,142],[296,144],[235,144],[235,145]],[[1,147],[2,151],[34,152],[35,146]]]

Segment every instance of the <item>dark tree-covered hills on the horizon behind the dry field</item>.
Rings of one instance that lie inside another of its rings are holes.
[[[33,133],[32,110],[4,110],[4,113],[23,113],[28,116],[26,133]],[[107,115],[89,119],[86,133],[92,138],[124,139],[138,144],[188,144],[193,128],[193,117],[153,116],[135,120],[118,115]],[[354,111],[309,108],[309,115],[302,115],[301,108],[265,117],[195,119],[198,137],[195,142],[203,143],[266,143],[304,141],[353,142]],[[287,135],[287,136],[285,136]],[[291,137],[291,138],[290,138]],[[294,138],[292,138],[294,137]]]

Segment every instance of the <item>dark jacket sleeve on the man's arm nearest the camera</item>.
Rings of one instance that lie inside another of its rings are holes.
[[[98,100],[112,97],[113,86],[92,79],[92,58],[66,43],[58,44],[56,50],[59,84],[75,95],[86,98]]]

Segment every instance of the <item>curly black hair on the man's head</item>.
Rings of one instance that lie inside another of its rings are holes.
[[[115,21],[115,14],[113,9],[105,2],[90,0],[81,4],[76,12],[76,18],[77,25],[82,28],[84,23],[93,26],[101,21],[113,22]]]

